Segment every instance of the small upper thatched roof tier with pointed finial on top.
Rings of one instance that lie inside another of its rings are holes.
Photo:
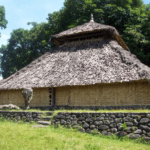
[[[92,37],[114,38],[125,50],[129,50],[116,28],[94,22],[93,18],[88,23],[71,28],[67,31],[60,32],[59,34],[52,35],[51,38],[56,45],[64,44],[66,41],[75,41],[78,39],[87,39]]]

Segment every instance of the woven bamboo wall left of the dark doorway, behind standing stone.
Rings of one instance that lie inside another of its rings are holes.
[[[0,91],[0,105],[10,104],[24,106],[22,90],[2,90]],[[30,106],[48,106],[49,88],[33,89],[33,100]]]

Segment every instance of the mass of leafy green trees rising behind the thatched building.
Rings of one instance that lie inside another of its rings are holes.
[[[9,44],[0,48],[3,77],[49,51],[51,35],[90,21],[91,13],[96,22],[114,26],[131,52],[150,66],[150,5],[142,0],[66,0],[62,9],[48,14],[48,23],[29,22],[30,30],[11,33]]]

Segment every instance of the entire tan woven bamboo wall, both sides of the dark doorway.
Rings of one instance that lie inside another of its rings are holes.
[[[30,106],[49,106],[49,88],[33,89]],[[1,90],[0,105],[24,106],[22,90]],[[56,105],[123,106],[150,105],[150,84],[122,83],[56,88]]]

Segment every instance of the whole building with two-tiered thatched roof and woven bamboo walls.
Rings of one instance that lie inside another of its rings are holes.
[[[56,48],[0,81],[0,105],[31,107],[150,106],[150,68],[133,55],[118,31],[91,21],[52,35]]]

